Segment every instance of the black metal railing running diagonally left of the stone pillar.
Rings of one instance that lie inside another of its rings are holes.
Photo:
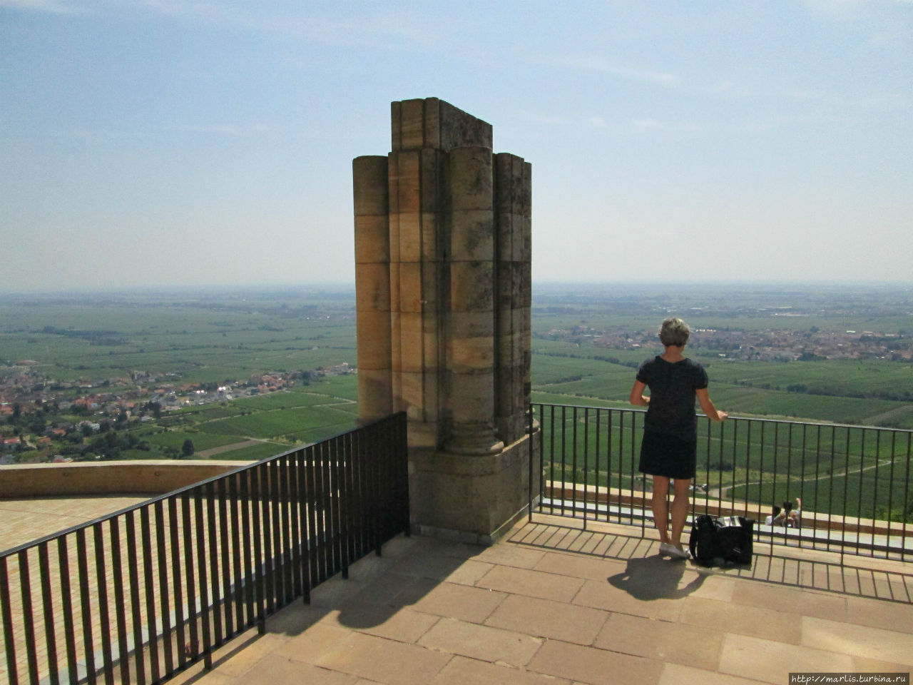
[[[0,553],[10,683],[161,682],[409,532],[404,414]]]

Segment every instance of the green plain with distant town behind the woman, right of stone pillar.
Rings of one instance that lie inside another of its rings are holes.
[[[533,399],[626,406],[636,366],[662,352],[659,322],[680,316],[722,409],[913,428],[909,290],[717,292],[546,290],[534,299]]]

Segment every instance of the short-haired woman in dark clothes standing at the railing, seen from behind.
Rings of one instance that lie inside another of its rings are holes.
[[[681,536],[687,518],[688,490],[698,467],[695,397],[704,414],[714,421],[729,416],[717,411],[710,401],[704,367],[682,354],[690,334],[681,319],[663,321],[659,341],[666,352],[640,365],[631,388],[631,404],[646,407],[639,469],[653,476],[653,521],[659,530],[659,553],[679,559],[687,559]],[[650,388],[650,395],[645,396],[646,387]],[[671,533],[666,502],[670,479],[675,488]]]

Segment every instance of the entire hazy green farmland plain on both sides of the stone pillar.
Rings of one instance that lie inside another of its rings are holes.
[[[656,326],[677,315],[735,416],[911,428],[911,311],[898,287],[541,286],[532,398],[627,407],[636,366],[661,352]],[[339,369],[355,364],[351,289],[5,296],[0,398],[22,416],[0,432],[35,441],[88,421],[131,436],[69,431],[23,460],[176,457],[187,440],[194,458],[260,458],[353,427],[356,376]]]

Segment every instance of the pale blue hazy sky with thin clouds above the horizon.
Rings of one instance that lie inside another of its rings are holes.
[[[353,283],[427,97],[532,164],[534,282],[913,282],[913,0],[0,0],[0,292]]]

